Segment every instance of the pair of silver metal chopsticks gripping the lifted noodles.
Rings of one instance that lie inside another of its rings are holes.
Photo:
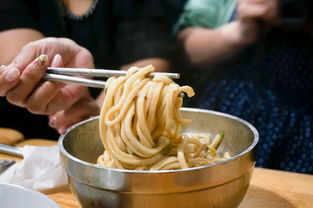
[[[46,81],[57,81],[66,84],[82,85],[88,87],[105,88],[105,81],[90,80],[78,78],[73,76],[91,76],[91,77],[111,77],[111,76],[125,76],[127,71],[120,70],[105,70],[105,69],[76,69],[76,68],[54,68],[48,67],[42,79]],[[72,76],[69,76],[72,75]],[[155,75],[165,75],[172,79],[180,77],[177,73],[152,72],[148,74],[149,77]],[[183,97],[184,94],[179,95]]]

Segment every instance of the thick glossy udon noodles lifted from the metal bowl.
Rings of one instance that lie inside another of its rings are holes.
[[[147,77],[153,70],[152,65],[132,67],[126,76],[107,80],[99,118],[105,152],[97,164],[119,169],[167,170],[224,160],[215,153],[222,134],[212,143],[205,134],[180,134],[181,126],[189,125],[191,120],[181,117],[182,97],[178,95],[185,92],[193,96],[192,88],[180,87],[167,76]]]

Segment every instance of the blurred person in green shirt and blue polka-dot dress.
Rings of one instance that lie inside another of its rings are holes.
[[[174,27],[199,70],[189,107],[253,124],[257,167],[313,174],[312,4],[188,0]]]

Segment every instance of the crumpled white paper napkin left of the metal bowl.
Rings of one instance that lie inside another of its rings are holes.
[[[24,159],[0,174],[0,182],[24,186],[37,191],[67,185],[58,145],[23,147]]]

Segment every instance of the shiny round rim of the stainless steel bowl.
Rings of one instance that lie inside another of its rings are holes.
[[[257,146],[257,143],[259,142],[259,133],[258,133],[257,129],[252,124],[250,124],[249,122],[247,122],[247,121],[245,121],[245,120],[243,120],[243,119],[241,119],[239,117],[236,117],[236,116],[233,116],[233,115],[230,115],[230,114],[227,114],[227,113],[223,113],[223,112],[206,110],[206,109],[200,109],[200,108],[182,107],[181,111],[208,112],[208,113],[215,114],[215,115],[218,115],[218,116],[228,117],[228,118],[237,120],[237,121],[243,123],[244,125],[246,125],[247,127],[250,128],[250,130],[254,134],[254,140],[253,140],[251,145],[246,150],[244,150],[242,153],[240,153],[238,155],[235,155],[235,156],[233,156],[233,157],[231,157],[229,159],[223,160],[223,161],[218,162],[218,163],[213,163],[213,164],[208,164],[208,165],[203,165],[203,166],[198,166],[198,167],[193,167],[193,168],[174,169],[174,170],[153,170],[153,171],[151,171],[151,170],[128,170],[128,169],[108,168],[108,167],[103,167],[103,166],[100,166],[100,165],[97,165],[97,164],[89,163],[89,162],[83,161],[81,159],[75,158],[73,155],[68,153],[65,150],[64,146],[63,146],[63,140],[64,140],[64,137],[65,137],[65,135],[67,133],[69,133],[73,128],[75,128],[75,127],[77,127],[77,126],[79,126],[79,125],[81,125],[81,124],[83,124],[85,122],[89,122],[89,121],[92,121],[92,120],[100,117],[100,116],[95,116],[95,117],[91,117],[91,118],[89,118],[87,120],[81,121],[81,122],[79,122],[79,123],[69,127],[67,130],[64,131],[64,133],[62,133],[60,135],[59,141],[58,141],[60,156],[61,156],[61,153],[63,153],[66,157],[68,157],[69,159],[71,159],[71,160],[73,160],[73,161],[75,161],[77,163],[84,164],[84,165],[87,165],[87,166],[92,166],[92,167],[95,167],[95,168],[106,169],[106,170],[110,170],[110,171],[116,171],[116,172],[124,172],[124,173],[125,172],[128,172],[128,173],[150,173],[150,174],[152,174],[152,173],[177,173],[177,172],[184,172],[184,171],[188,171],[188,170],[196,170],[196,169],[208,168],[208,167],[216,166],[216,165],[219,165],[219,164],[227,163],[228,161],[231,161],[231,160],[235,160],[237,158],[240,158],[244,154],[250,152],[254,147]],[[61,159],[61,162],[62,162],[62,159]]]

